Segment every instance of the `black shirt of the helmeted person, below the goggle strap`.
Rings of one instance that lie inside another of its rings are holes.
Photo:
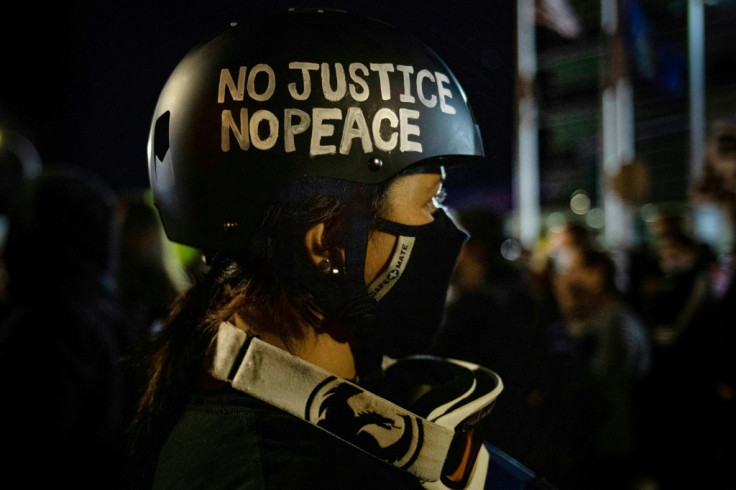
[[[159,456],[154,489],[416,488],[397,470],[230,388],[196,396]]]

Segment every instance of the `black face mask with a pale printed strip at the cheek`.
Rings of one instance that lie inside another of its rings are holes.
[[[425,352],[442,322],[450,276],[467,235],[442,209],[426,225],[383,220],[379,229],[398,237],[387,271],[368,286],[378,301],[380,343],[392,358]]]

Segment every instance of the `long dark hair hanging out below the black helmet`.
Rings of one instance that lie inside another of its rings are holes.
[[[305,267],[313,267],[303,249],[304,233],[324,222],[326,247],[344,247],[351,196],[368,191],[363,213],[373,228],[391,182],[356,189],[341,181],[302,181],[277,197],[252,247],[206,254],[202,276],[177,299],[163,329],[139,353],[147,382],[131,424],[136,457],[155,461],[202,379],[206,351],[221,322],[237,312],[246,323],[278,335],[287,347],[305,325],[320,328],[325,312],[305,279]]]

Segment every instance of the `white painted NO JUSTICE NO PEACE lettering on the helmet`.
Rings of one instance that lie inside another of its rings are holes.
[[[349,63],[347,71],[342,63],[294,61],[288,66],[296,81],[288,83],[286,90],[295,101],[306,101],[319,95],[328,103],[348,98],[356,102],[364,102],[371,97],[376,102],[379,98],[381,102],[398,98],[402,105],[423,105],[446,114],[456,112],[448,104],[448,99],[452,98],[450,79],[439,71],[416,71],[413,66],[393,63]],[[313,85],[312,79],[316,76],[320,83]],[[250,69],[241,66],[236,77],[229,69],[223,68],[220,70],[217,102],[223,104],[228,98],[234,102],[268,102],[277,90],[276,72],[268,64],[256,64]],[[304,147],[309,145],[311,156],[347,155],[353,143],[359,143],[364,153],[373,152],[374,148],[384,152],[397,148],[402,152],[422,152],[418,110],[381,107],[378,103],[370,107],[368,117],[361,106],[312,107],[311,110],[282,106],[276,112],[260,108],[252,113],[248,107],[240,107],[239,111],[224,109],[221,113],[220,148],[223,152],[230,151],[231,142],[235,139],[241,150],[247,151],[251,145],[258,150],[270,150],[281,136],[284,151],[289,153],[296,151],[299,135],[311,129],[302,137],[301,143]],[[283,115],[280,114],[282,110]]]

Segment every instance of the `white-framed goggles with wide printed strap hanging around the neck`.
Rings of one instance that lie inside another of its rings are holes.
[[[412,356],[388,362],[371,392],[227,322],[209,361],[215,379],[408,471],[427,488],[466,488],[503,390],[501,378],[477,364]]]

